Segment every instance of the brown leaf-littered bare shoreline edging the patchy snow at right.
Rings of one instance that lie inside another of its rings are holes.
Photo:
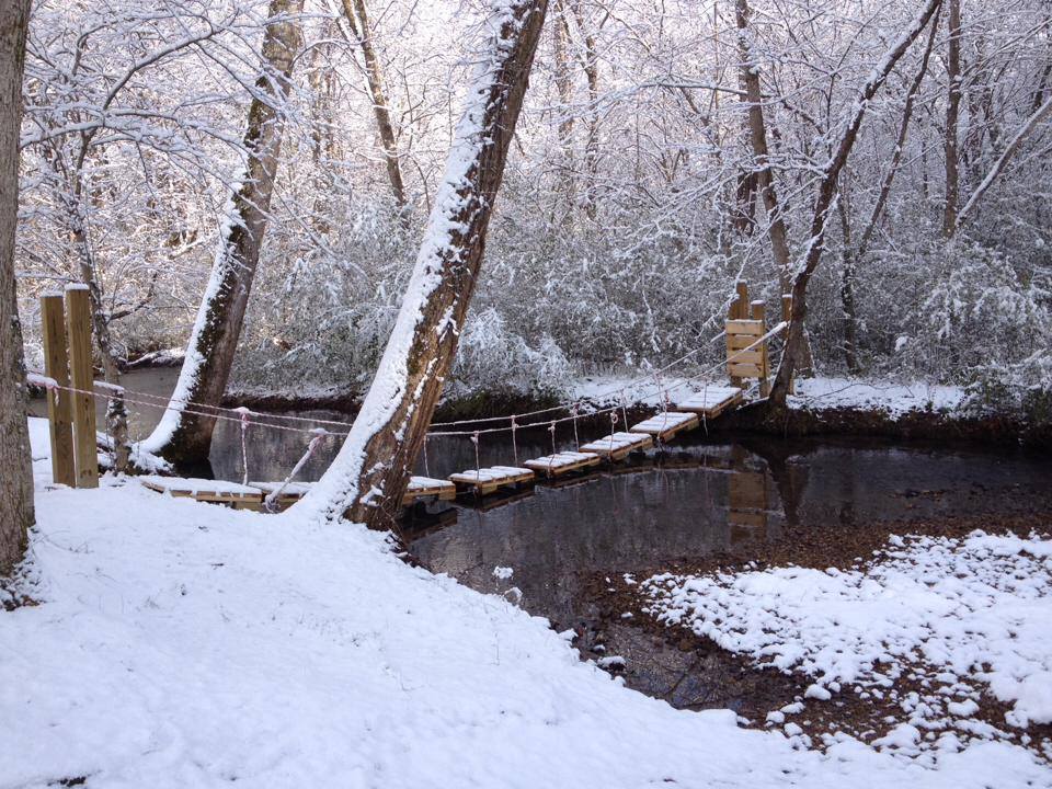
[[[941,491],[915,491],[911,496],[938,496]],[[982,495],[982,491],[975,491]],[[848,570],[859,558],[872,556],[887,548],[892,535],[921,535],[963,538],[975,529],[990,534],[1015,534],[1025,537],[1036,533],[1052,536],[1052,511],[1029,514],[1009,514],[998,522],[990,516],[933,518],[925,521],[895,519],[845,527],[809,527],[805,533],[787,531],[766,542],[751,546],[747,554],[737,551],[716,551],[693,560],[673,561],[661,567],[634,568],[626,571],[642,580],[658,573],[677,575],[710,575],[736,570],[764,570],[774,567],[798,565],[825,570]],[[668,704],[690,710],[732,709],[742,725],[770,729],[766,720],[771,710],[807,701],[807,711],[793,718],[815,747],[822,747],[822,735],[843,732],[873,742],[901,723],[903,716],[897,699],[864,700],[854,686],[845,686],[833,698],[819,701],[807,698],[807,688],[813,678],[797,672],[784,673],[773,667],[759,667],[746,655],[727,651],[711,639],[698,636],[689,627],[670,625],[650,616],[643,608],[647,599],[638,583],[629,583],[622,572],[593,573],[584,580],[580,604],[590,614],[586,625],[572,628],[576,633],[574,645],[582,658],[602,661],[617,654],[625,663],[606,667],[615,676],[624,677],[632,687]],[[661,674],[660,664],[672,663],[673,673],[681,678],[665,682],[664,693],[654,693],[654,677]],[[683,686],[704,677],[705,682],[689,701],[684,702]],[[910,691],[931,693],[928,687],[905,677],[895,683],[900,697]],[[677,696],[679,696],[677,698]],[[1034,756],[1052,761],[1052,724],[1031,723],[1026,729],[1005,725],[1005,713],[1010,709],[983,690],[977,701],[974,720],[1006,732],[1013,742],[1027,747]]]

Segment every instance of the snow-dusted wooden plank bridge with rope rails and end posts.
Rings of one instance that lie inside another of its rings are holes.
[[[477,462],[476,468],[449,474],[448,479],[414,476],[402,498],[402,505],[454,501],[462,495],[483,498],[515,490],[528,491],[538,481],[554,483],[558,480],[580,477],[604,465],[620,464],[629,456],[655,445],[664,445],[681,433],[697,430],[704,423],[739,408],[753,392],[766,397],[771,375],[768,345],[769,341],[782,333],[788,325],[789,297],[782,297],[782,321],[768,329],[764,302],[750,301],[746,283],[739,282],[735,288],[735,297],[731,302],[723,332],[728,380],[718,385],[706,382],[696,390],[684,392],[675,402],[671,401],[667,391],[663,391],[664,403],[660,411],[636,424],[626,425],[622,431],[616,430],[617,409],[607,409],[610,413],[610,433],[583,444],[578,443],[575,450],[559,451],[553,445],[550,455],[526,460],[522,466],[483,468]],[[76,287],[67,289],[65,316],[61,296],[49,295],[42,298],[47,367],[45,376],[37,376],[38,380],[35,382],[48,388],[54,479],[71,487],[98,485],[95,414],[91,402],[91,327],[87,295],[85,290]],[[67,338],[68,346],[65,342]],[[72,397],[59,398],[60,390],[68,390]],[[621,413],[627,418],[624,408]],[[514,415],[500,419],[511,421],[513,441],[516,427],[548,424],[541,422],[516,425]],[[573,419],[576,419],[575,409]],[[481,420],[484,421],[487,420]],[[552,421],[549,427],[552,436],[554,424],[556,421]],[[434,435],[470,435],[477,447],[480,432],[503,430],[507,428],[473,433],[438,432]],[[576,428],[574,432],[576,433]],[[313,446],[315,442],[311,442],[311,449]],[[142,476],[139,480],[150,490],[176,498],[224,504],[240,510],[273,512],[287,508],[310,490],[312,483],[293,481],[294,474],[295,470],[289,478],[277,482],[250,482],[248,478],[243,482],[229,482],[157,474]]]

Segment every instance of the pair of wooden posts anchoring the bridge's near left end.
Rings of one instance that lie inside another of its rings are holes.
[[[64,315],[65,313],[65,315]],[[41,298],[44,338],[44,373],[59,387],[48,390],[47,418],[52,443],[52,477],[73,488],[99,487],[99,456],[95,448],[95,399],[91,364],[91,304],[88,288],[66,288],[62,297]]]

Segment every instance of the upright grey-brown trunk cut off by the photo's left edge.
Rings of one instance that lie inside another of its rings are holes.
[[[0,3],[0,575],[22,559],[33,525],[33,461],[26,423],[22,325],[14,283],[19,133],[30,0]]]

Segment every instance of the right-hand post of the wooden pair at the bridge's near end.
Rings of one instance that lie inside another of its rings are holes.
[[[70,382],[79,392],[70,392],[73,408],[73,455],[77,460],[77,487],[99,487],[99,457],[95,449],[95,399],[90,393],[91,305],[87,285],[66,286],[66,333],[69,336]]]

